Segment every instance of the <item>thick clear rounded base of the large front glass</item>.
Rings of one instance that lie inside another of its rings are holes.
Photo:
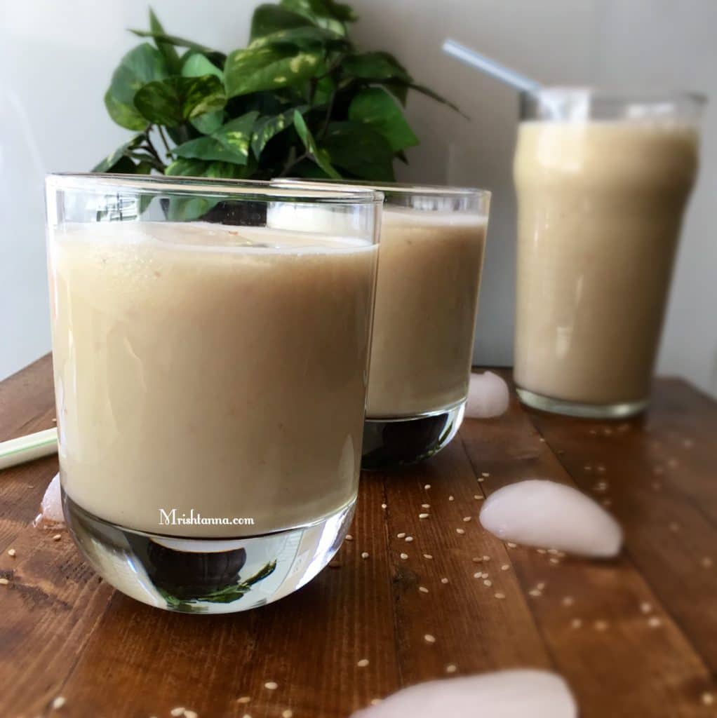
[[[63,491],[68,528],[93,569],[138,601],[182,613],[246,611],[300,589],[336,554],[355,505],[264,536],[177,538],[103,521]]]

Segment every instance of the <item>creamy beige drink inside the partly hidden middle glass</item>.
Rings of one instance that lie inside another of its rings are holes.
[[[368,419],[466,398],[486,223],[477,214],[384,206]]]

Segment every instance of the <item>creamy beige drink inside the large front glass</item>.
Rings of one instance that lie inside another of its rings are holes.
[[[377,246],[266,228],[51,230],[60,472],[128,528],[248,536],[356,496]],[[160,526],[159,510],[251,518]]]

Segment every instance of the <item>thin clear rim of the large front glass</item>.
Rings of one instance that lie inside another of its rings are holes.
[[[383,205],[384,193],[371,187],[326,190],[285,185],[274,180],[233,180],[222,177],[183,177],[159,174],[114,174],[108,172],[50,172],[45,187],[57,190],[129,190],[144,195],[179,195],[185,197],[224,197],[254,202],[306,202],[318,205]]]

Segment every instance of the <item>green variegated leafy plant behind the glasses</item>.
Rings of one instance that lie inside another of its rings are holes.
[[[105,95],[134,136],[94,172],[269,180],[394,179],[418,144],[402,111],[418,85],[388,52],[348,37],[353,9],[334,0],[263,4],[249,45],[228,55],[167,34],[150,9],[151,38],[128,52]]]

